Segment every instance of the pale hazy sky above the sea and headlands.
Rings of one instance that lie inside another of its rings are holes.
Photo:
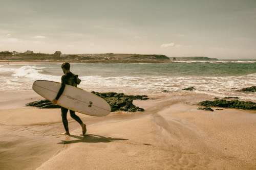
[[[0,51],[256,58],[256,0],[0,0]]]

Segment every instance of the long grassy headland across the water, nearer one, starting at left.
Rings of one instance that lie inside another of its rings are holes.
[[[0,53],[0,60],[4,61],[22,61],[22,62],[76,62],[76,63],[93,63],[93,62],[170,62],[165,55],[142,55],[142,54],[11,54]]]

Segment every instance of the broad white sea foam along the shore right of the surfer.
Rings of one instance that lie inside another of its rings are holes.
[[[196,92],[216,94],[217,96],[235,95],[242,99],[256,100],[254,94],[244,94],[236,90],[256,84],[256,74],[229,77],[82,77],[81,87],[93,90],[136,90],[159,92],[161,90],[179,91],[194,86]]]

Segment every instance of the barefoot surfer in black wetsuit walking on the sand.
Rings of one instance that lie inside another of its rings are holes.
[[[78,84],[80,84],[81,80],[78,79],[78,75],[74,75],[71,71],[70,71],[70,64],[68,62],[65,62],[61,65],[61,68],[63,70],[63,73],[65,75],[63,75],[61,77],[61,85],[60,85],[60,89],[57,93],[56,98],[52,101],[53,104],[57,104],[58,99],[60,98],[61,94],[63,93],[66,84],[71,85],[76,87]],[[67,113],[68,111],[70,112],[70,116],[76,120],[76,122],[78,122],[81,127],[82,127],[82,134],[86,134],[86,124],[83,124],[82,120],[80,119],[80,117],[78,117],[75,112],[73,110],[69,110],[67,108],[61,107],[61,116],[62,116],[62,122],[64,125],[64,128],[66,130],[67,135],[70,135],[69,133],[69,125],[68,125],[68,119],[67,119]]]

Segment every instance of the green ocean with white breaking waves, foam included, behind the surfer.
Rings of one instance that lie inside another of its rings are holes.
[[[71,64],[71,71],[82,80],[79,87],[88,91],[153,94],[193,86],[197,93],[256,100],[255,93],[237,91],[256,86],[256,61],[82,63]],[[35,80],[60,82],[62,74],[61,63],[2,64],[0,90],[32,91]]]

